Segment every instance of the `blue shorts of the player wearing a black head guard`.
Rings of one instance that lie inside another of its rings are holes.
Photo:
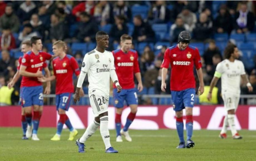
[[[181,111],[185,107],[194,107],[195,89],[189,88],[181,91],[171,91],[173,110]]]

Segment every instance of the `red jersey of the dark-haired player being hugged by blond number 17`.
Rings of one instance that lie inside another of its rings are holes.
[[[37,55],[34,54],[32,51],[27,52],[24,54],[23,58],[21,59],[21,65],[26,66],[26,71],[31,73],[36,73],[38,69],[42,71],[44,68],[44,63],[46,60],[51,59],[51,54],[46,52],[39,52]],[[46,67],[46,66],[45,66]],[[37,80],[37,77],[26,77],[23,76],[21,80],[22,87],[33,87],[42,85],[42,82]]]

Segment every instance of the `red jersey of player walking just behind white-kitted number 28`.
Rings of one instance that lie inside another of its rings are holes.
[[[121,49],[112,51],[115,59],[116,75],[122,89],[135,87],[134,74],[140,72],[138,53],[130,49],[124,53]],[[114,84],[114,88],[116,88]]]

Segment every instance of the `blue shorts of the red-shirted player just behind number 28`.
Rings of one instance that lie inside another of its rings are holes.
[[[136,89],[122,89],[120,93],[117,92],[117,89],[114,88],[113,90],[113,100],[114,106],[116,108],[124,107],[124,101],[126,101],[127,105],[137,105],[138,104],[138,97],[136,93]]]

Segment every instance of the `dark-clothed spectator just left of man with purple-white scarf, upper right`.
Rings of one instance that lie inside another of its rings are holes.
[[[225,5],[222,5],[219,10],[219,14],[216,17],[213,25],[215,28],[215,32],[217,33],[228,33],[230,34],[232,31],[232,17],[228,12],[228,9]]]

